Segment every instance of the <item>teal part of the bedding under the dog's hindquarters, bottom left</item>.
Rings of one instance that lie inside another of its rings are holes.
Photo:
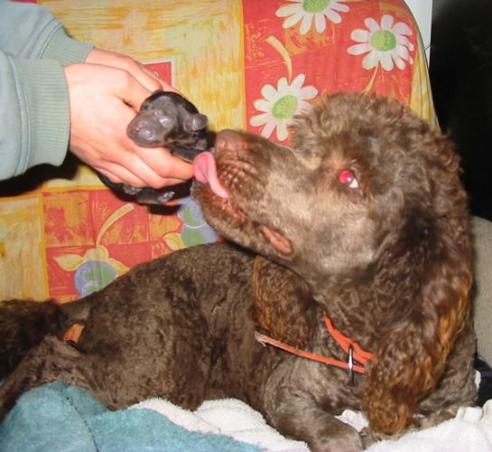
[[[234,451],[257,447],[192,432],[153,410],[110,411],[88,391],[61,382],[28,391],[0,425],[5,451]]]

